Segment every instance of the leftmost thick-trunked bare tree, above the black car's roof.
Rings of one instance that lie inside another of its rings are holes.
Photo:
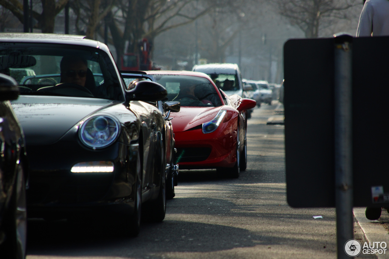
[[[40,10],[32,11],[32,16],[38,21],[34,28],[42,30],[42,33],[53,33],[55,17],[65,7],[68,0],[40,0]],[[18,0],[0,0],[0,5],[8,9],[23,23],[23,3]]]

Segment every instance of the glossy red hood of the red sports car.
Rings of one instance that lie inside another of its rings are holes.
[[[173,131],[181,132],[212,120],[221,107],[181,107],[179,112],[170,113]]]

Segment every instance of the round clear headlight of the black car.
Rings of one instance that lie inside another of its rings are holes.
[[[93,149],[107,147],[119,134],[119,124],[108,116],[95,116],[86,120],[80,128],[81,142]]]

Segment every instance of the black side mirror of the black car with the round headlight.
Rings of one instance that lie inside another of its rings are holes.
[[[151,81],[139,81],[131,90],[126,90],[127,101],[161,101],[168,92],[161,84]]]

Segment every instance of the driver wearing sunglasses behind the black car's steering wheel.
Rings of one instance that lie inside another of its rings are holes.
[[[61,83],[85,86],[88,63],[79,56],[64,56],[60,63]]]

